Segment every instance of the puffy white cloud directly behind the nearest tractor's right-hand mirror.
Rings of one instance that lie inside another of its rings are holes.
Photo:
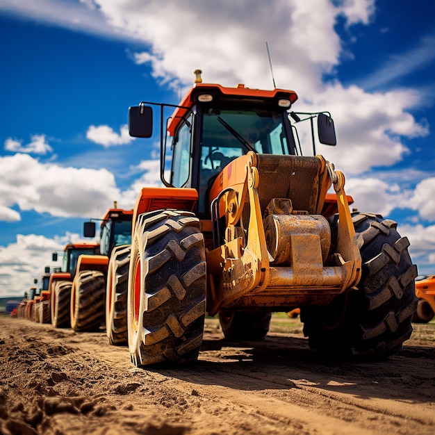
[[[369,93],[356,86],[334,83],[315,95],[310,104],[297,110],[329,110],[334,117],[336,147],[323,146],[320,154],[345,174],[362,174],[371,167],[391,166],[402,161],[409,149],[401,137],[426,136],[426,124],[419,124],[406,110],[417,106],[421,95],[413,90]]]

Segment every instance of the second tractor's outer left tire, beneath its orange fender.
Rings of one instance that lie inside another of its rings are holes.
[[[71,289],[71,327],[76,332],[95,331],[104,322],[106,280],[97,270],[76,274]]]

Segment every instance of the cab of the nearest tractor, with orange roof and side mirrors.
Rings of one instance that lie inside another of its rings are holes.
[[[162,131],[165,109],[174,108],[167,117],[167,135],[165,138],[161,135],[161,181],[167,187],[195,188],[198,192],[195,211],[199,217],[208,217],[208,193],[213,181],[234,159],[249,151],[302,155],[293,124],[310,120],[314,154],[315,130],[321,143],[336,145],[334,122],[329,113],[290,111],[296,100],[292,90],[255,90],[244,85],[225,88],[202,83],[197,77],[179,106],[142,102],[138,107],[131,107],[129,129],[131,136],[151,137],[151,106],[161,106]]]

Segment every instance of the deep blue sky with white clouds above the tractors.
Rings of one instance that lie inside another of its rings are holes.
[[[21,296],[83,220],[158,185],[129,106],[204,81],[329,110],[360,211],[398,222],[435,273],[435,4],[416,0],[0,0],[0,297]]]

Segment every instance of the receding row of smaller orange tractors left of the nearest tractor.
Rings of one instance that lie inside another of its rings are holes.
[[[101,219],[100,243],[69,243],[60,268],[45,268],[17,307],[18,318],[51,323],[74,331],[104,328],[111,344],[127,337],[126,293],[133,210],[109,208]],[[83,235],[95,238],[95,220]],[[53,261],[58,253],[52,254]]]

